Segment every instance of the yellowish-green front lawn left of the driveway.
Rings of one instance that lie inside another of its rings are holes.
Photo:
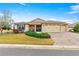
[[[33,45],[52,45],[54,42],[48,39],[34,38],[25,34],[0,35],[0,44],[33,44]]]

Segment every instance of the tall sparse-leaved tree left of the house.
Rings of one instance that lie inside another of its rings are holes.
[[[12,20],[12,14],[8,10],[4,10],[2,12],[3,16],[2,19],[0,20],[0,28],[7,29],[11,28],[11,25],[13,24]]]

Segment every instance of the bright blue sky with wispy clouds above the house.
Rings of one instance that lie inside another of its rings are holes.
[[[3,10],[9,10],[15,22],[28,22],[35,18],[69,23],[79,20],[77,3],[0,3],[0,15]]]

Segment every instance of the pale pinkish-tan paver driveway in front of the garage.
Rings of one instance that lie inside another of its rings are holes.
[[[79,45],[79,34],[71,32],[49,33],[55,45]]]

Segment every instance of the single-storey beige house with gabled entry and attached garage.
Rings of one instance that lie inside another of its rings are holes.
[[[15,23],[16,29],[23,31],[32,30],[34,32],[66,32],[68,31],[69,24],[60,21],[45,21],[36,18],[28,23]]]

